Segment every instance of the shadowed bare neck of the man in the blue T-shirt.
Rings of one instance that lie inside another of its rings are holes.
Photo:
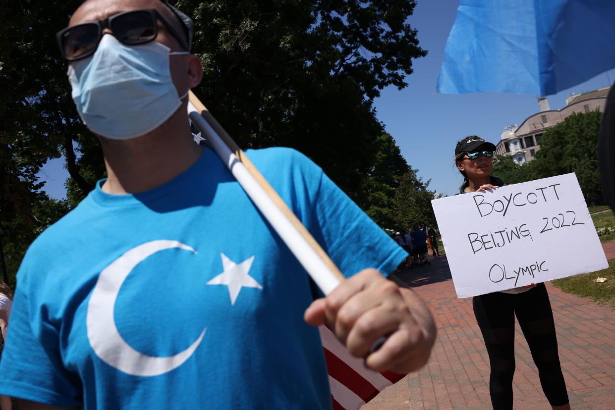
[[[146,135],[125,141],[101,138],[109,194],[136,194],[169,182],[188,170],[203,152],[194,143],[185,107]],[[183,114],[183,115],[181,115]]]

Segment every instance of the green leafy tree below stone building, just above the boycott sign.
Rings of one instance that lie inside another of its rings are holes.
[[[601,120],[600,111],[576,112],[547,130],[536,159],[530,163],[536,178],[574,172],[585,200],[604,203],[598,171]]]

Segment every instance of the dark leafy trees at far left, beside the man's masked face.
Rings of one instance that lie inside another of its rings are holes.
[[[68,210],[40,191],[44,183],[36,175],[47,159],[63,155],[76,186],[91,189],[79,174],[74,144],[94,137],[77,117],[54,36],[79,4],[31,0],[0,7],[0,226],[10,283],[23,251],[46,226],[41,213],[57,219]]]

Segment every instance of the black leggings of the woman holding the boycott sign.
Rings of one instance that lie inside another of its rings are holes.
[[[544,283],[518,294],[495,292],[475,296],[472,305],[489,354],[489,392],[494,410],[512,409],[515,314],[530,346],[547,400],[552,406],[568,403],[553,312]]]

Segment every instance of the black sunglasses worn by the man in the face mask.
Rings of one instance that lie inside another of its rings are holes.
[[[68,61],[75,61],[88,57],[96,51],[98,43],[103,37],[104,28],[109,28],[113,36],[122,44],[137,45],[154,41],[158,35],[157,20],[160,20],[169,30],[169,33],[177,39],[181,47],[188,51],[185,39],[177,34],[170,23],[154,9],[131,10],[95,22],[66,27],[58,31],[55,37],[62,56]]]

